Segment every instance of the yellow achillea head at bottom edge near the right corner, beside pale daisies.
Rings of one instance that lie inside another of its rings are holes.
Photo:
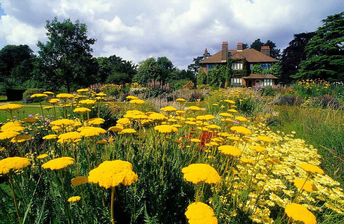
[[[315,215],[301,204],[287,204],[285,212],[294,221],[301,221],[304,222],[304,224],[316,224]]]

